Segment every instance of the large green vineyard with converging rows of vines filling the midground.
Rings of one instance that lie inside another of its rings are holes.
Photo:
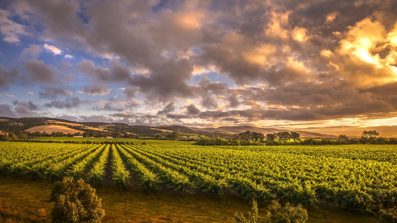
[[[48,181],[68,175],[95,185],[109,183],[104,176],[110,172],[120,188],[134,178],[148,194],[163,184],[181,196],[202,191],[220,200],[226,193],[244,199],[276,197],[308,208],[322,201],[363,212],[395,205],[397,198],[397,146],[392,145],[0,142],[0,154],[4,174]]]

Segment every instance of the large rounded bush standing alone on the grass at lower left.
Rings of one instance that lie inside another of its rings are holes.
[[[50,200],[55,202],[51,212],[53,222],[97,223],[105,215],[95,189],[83,179],[64,177],[56,181]]]

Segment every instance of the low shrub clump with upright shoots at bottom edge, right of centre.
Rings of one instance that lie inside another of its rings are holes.
[[[285,204],[283,208],[278,200],[272,200],[268,206],[268,213],[265,219],[258,215],[258,204],[252,200],[252,212],[248,212],[249,219],[246,219],[242,213],[235,213],[234,220],[237,223],[305,223],[308,218],[307,211],[301,206]]]

